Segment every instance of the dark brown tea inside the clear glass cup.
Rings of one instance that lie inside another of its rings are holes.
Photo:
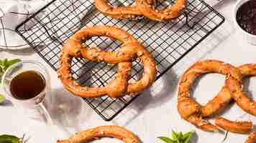
[[[11,81],[11,93],[17,99],[31,99],[45,89],[45,79],[37,71],[24,71]]]

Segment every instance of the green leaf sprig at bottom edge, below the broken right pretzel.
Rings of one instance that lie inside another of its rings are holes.
[[[173,139],[170,139],[169,137],[157,138],[161,139],[165,143],[189,143],[191,137],[193,137],[193,134],[195,134],[195,131],[187,132],[186,134],[183,134],[182,132],[173,131]]]

